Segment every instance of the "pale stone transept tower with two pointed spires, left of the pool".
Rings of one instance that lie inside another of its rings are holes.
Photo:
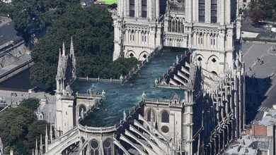
[[[70,54],[65,55],[64,42],[62,50],[59,49],[59,62],[57,66],[56,90],[56,123],[57,135],[63,135],[76,125],[75,99],[70,87],[76,77],[76,58],[74,56],[73,40],[71,39]]]

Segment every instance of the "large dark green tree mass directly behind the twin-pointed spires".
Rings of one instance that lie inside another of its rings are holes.
[[[59,47],[64,41],[68,53],[71,36],[79,77],[118,78],[137,64],[134,58],[113,62],[113,19],[106,8],[78,5],[68,6],[64,11],[64,16],[52,24],[32,52],[35,66],[31,68],[30,79],[34,83],[54,88]]]

